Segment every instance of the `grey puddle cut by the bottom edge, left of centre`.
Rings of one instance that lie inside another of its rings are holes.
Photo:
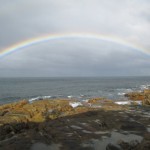
[[[35,143],[30,150],[60,150],[60,144],[46,145],[44,143]]]

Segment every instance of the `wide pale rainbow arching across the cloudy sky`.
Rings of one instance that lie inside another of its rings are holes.
[[[149,50],[144,49],[143,47],[141,47],[137,44],[131,44],[130,42],[122,40],[121,38],[117,38],[115,36],[104,35],[104,34],[67,33],[67,34],[48,34],[48,35],[44,35],[44,36],[40,36],[40,37],[27,39],[25,41],[21,41],[10,47],[0,50],[0,58],[3,58],[14,52],[17,52],[26,47],[36,45],[39,43],[43,43],[43,42],[47,42],[47,41],[51,41],[51,40],[71,39],[71,38],[82,38],[82,39],[87,38],[87,39],[105,40],[105,41],[114,42],[114,43],[129,47],[129,48],[135,49],[135,50],[143,52],[145,54],[150,54]]]

